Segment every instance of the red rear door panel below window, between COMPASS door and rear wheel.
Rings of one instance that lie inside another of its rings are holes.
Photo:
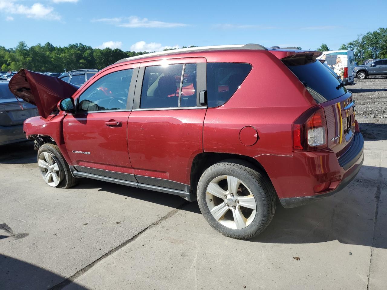
[[[134,174],[190,184],[192,160],[203,152],[205,111],[133,111],[128,147]]]

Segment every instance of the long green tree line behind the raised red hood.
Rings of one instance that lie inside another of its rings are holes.
[[[92,48],[82,43],[61,47],[53,46],[48,42],[44,45],[39,43],[28,47],[24,41],[20,41],[15,48],[7,49],[0,46],[0,70],[18,71],[26,68],[34,72],[64,72],[64,70],[81,68],[102,69],[122,58],[145,53],[148,52],[122,51],[118,48]]]

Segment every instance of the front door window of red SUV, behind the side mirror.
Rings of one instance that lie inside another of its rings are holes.
[[[79,97],[79,111],[126,109],[133,68],[109,73],[96,80]]]

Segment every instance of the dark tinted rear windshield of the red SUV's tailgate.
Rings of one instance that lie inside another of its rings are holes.
[[[282,61],[305,85],[318,104],[336,99],[347,92],[339,80],[312,55],[285,58]]]

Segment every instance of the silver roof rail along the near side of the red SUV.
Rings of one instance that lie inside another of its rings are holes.
[[[159,51],[153,53],[147,53],[145,55],[132,56],[128,58],[123,58],[122,60],[116,61],[115,63],[120,63],[128,60],[137,60],[140,58],[148,58],[151,56],[161,56],[161,55],[174,55],[177,53],[186,53],[186,52],[195,52],[195,51],[214,51],[214,50],[233,50],[233,49],[257,49],[257,50],[267,50],[264,46],[255,43],[248,44],[235,44],[235,45],[214,45],[214,46],[200,46],[200,47],[190,47],[190,48],[180,48],[180,49],[171,49],[166,51]]]

